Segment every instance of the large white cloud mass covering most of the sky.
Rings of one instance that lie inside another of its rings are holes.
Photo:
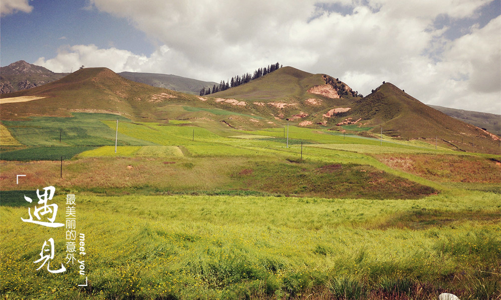
[[[73,61],[213,81],[279,61],[339,77],[363,94],[386,80],[425,103],[501,113],[499,17],[456,40],[434,26],[440,16],[472,18],[491,1],[91,0],[160,46],[146,56],[76,45],[39,60],[50,69]]]

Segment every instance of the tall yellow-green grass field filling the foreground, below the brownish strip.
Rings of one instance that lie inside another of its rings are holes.
[[[54,200],[60,207],[63,197]],[[405,201],[81,193],[85,288],[76,286],[77,264],[59,276],[35,270],[48,236],[56,241],[51,265],[64,261],[64,228],[29,226],[19,220],[25,206],[2,206],[1,292],[47,299],[429,299],[442,291],[495,298],[500,201],[475,192]],[[413,220],[406,213],[415,216],[420,207],[434,207],[431,216],[474,209],[480,217],[408,227]],[[384,227],[395,216],[402,225]]]

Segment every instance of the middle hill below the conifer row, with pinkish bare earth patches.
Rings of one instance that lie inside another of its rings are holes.
[[[261,115],[300,126],[325,125],[323,114],[359,97],[344,82],[326,74],[312,74],[285,66],[249,83],[211,94],[243,100]]]

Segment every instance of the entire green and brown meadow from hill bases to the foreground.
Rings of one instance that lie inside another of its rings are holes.
[[[2,297],[501,299],[500,155],[189,113],[2,121]],[[88,286],[64,226],[21,220],[48,185],[56,222],[76,195]],[[49,237],[64,273],[34,263]]]

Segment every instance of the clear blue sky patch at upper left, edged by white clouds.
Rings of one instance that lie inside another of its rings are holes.
[[[95,44],[117,47],[138,54],[150,54],[155,46],[146,33],[126,18],[88,7],[86,0],[34,0],[30,13],[14,13],[1,18],[2,56],[5,66],[18,60],[35,62],[54,57],[59,47]]]

